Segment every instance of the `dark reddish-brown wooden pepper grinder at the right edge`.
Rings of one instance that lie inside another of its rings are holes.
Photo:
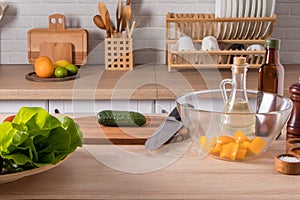
[[[300,77],[297,83],[290,86],[290,99],[293,101],[293,109],[286,128],[286,139],[300,139]]]

